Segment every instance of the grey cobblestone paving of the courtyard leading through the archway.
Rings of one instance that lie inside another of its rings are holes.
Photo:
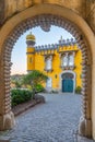
[[[46,103],[17,116],[16,126],[0,137],[10,142],[93,142],[75,135],[81,95],[45,94]]]

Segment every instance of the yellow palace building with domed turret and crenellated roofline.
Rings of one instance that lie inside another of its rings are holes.
[[[26,36],[27,72],[39,70],[47,74],[47,91],[74,93],[82,86],[82,55],[73,38],[41,46],[35,46],[35,40],[34,35]]]

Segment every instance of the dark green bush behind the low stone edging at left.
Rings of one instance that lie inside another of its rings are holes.
[[[33,98],[33,93],[26,90],[12,90],[11,97],[12,97],[12,107],[13,107],[19,104],[31,100]]]

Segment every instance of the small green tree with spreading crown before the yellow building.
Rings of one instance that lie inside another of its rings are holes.
[[[37,84],[44,83],[47,79],[48,79],[48,76],[46,74],[44,74],[43,72],[40,72],[38,70],[33,70],[23,78],[23,84],[31,85],[31,88],[35,96],[35,94],[36,94],[35,88],[36,88]]]

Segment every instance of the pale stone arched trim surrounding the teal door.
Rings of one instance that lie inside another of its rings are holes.
[[[73,74],[73,76],[74,76],[73,78],[73,93],[75,93],[76,74],[75,74],[75,72],[73,72],[71,70],[66,70],[66,71],[63,71],[63,72],[60,73],[60,75],[59,75],[59,79],[60,79],[60,81],[59,81],[59,88],[60,88],[60,91],[62,92],[62,78],[61,78],[61,75],[64,74],[64,73],[72,73]]]

